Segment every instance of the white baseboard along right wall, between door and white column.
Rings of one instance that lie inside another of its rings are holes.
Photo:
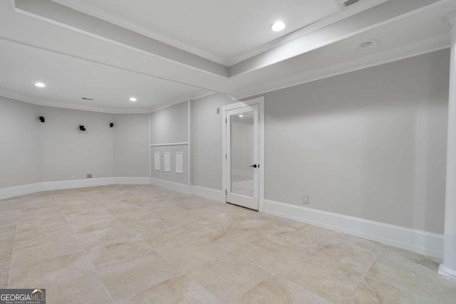
[[[443,236],[303,206],[265,200],[264,213],[442,258]]]

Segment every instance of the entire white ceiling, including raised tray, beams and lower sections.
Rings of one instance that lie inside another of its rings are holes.
[[[445,16],[456,11],[456,0],[360,0],[346,11],[333,0],[227,3],[0,1],[0,95],[103,112],[244,98],[447,48]]]

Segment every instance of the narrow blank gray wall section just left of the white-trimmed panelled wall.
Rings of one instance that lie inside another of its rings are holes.
[[[114,115],[115,177],[149,177],[149,115]]]

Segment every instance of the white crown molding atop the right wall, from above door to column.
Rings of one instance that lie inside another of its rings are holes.
[[[382,65],[393,61],[400,61],[406,58],[440,51],[450,47],[450,34],[444,34],[424,41],[410,43],[406,46],[400,46],[380,53],[364,56],[353,61],[347,61],[332,65],[328,68],[315,70],[311,73],[301,74],[296,77],[280,80],[275,83],[268,83],[266,85],[258,85],[254,88],[245,90],[237,90],[229,95],[234,98],[242,99],[249,98],[254,95],[269,93],[275,90],[290,88],[294,85],[301,85],[304,83],[311,83],[312,81],[321,80],[324,78],[333,77],[345,73],[350,73],[364,68],[371,68],[376,65]]]

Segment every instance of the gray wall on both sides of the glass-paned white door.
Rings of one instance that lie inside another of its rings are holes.
[[[448,50],[265,96],[265,198],[443,232]],[[194,184],[221,189],[221,117],[195,100]]]

